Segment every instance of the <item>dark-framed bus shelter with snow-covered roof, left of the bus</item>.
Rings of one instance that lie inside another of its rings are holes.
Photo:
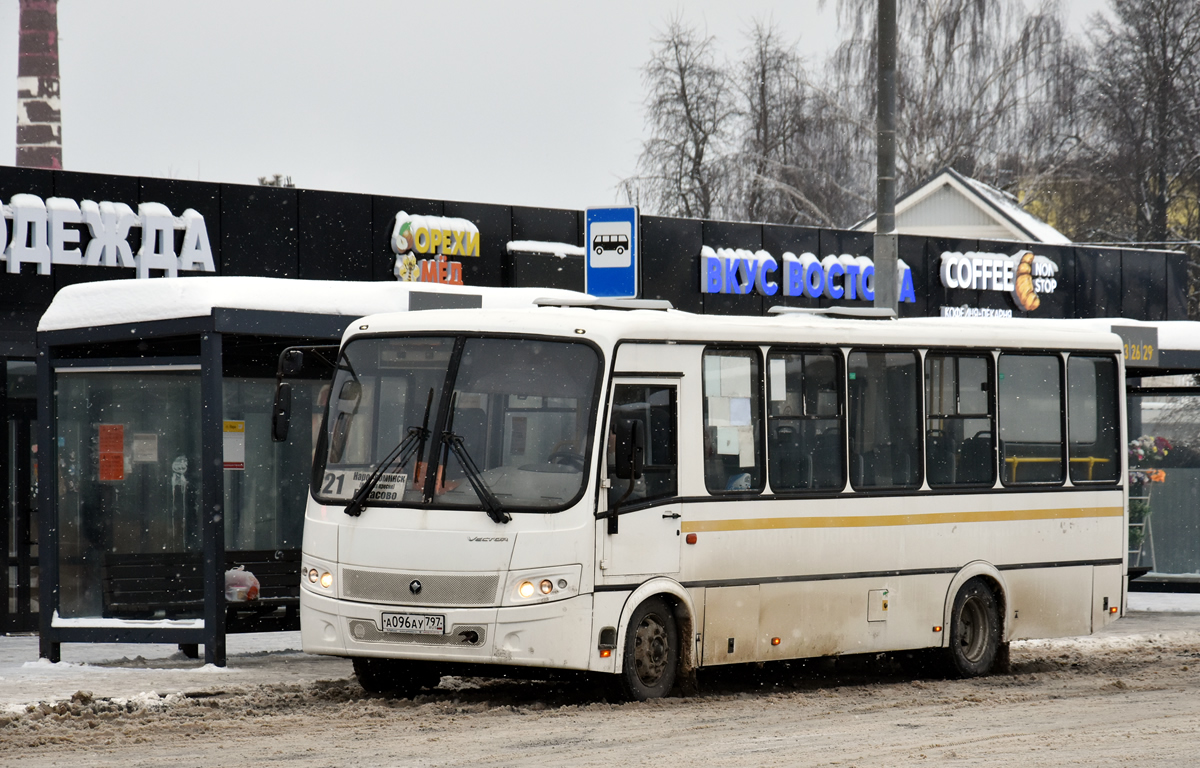
[[[336,344],[376,312],[557,294],[580,295],[268,277],[62,289],[37,334],[41,655],[58,661],[65,642],[203,644],[223,666],[227,632],[298,629],[329,370],[308,355],[288,439],[274,443],[280,353]]]

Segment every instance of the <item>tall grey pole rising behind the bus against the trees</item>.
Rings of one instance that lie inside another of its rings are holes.
[[[896,270],[896,0],[878,0],[875,306],[899,313]]]

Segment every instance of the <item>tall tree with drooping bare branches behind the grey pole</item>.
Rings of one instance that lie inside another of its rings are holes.
[[[841,0],[839,13],[847,38],[828,89],[870,151],[875,2]],[[910,0],[899,23],[901,188],[953,166],[1014,190],[1069,149],[1074,91],[1064,74],[1079,53],[1054,0],[1032,13],[1018,0]]]

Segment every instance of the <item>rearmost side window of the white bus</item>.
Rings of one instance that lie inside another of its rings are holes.
[[[1067,432],[1070,481],[1112,482],[1121,474],[1117,452],[1117,362],[1072,355],[1067,361]]]

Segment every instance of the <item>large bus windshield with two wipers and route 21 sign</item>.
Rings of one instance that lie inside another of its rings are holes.
[[[563,509],[587,476],[598,371],[578,342],[354,340],[330,386],[313,496],[344,504],[382,469],[372,506],[479,508],[482,493],[505,511]]]

